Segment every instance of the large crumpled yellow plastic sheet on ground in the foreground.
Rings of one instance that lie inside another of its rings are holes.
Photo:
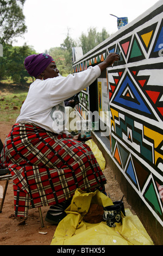
[[[90,204],[112,205],[109,197],[99,191],[86,193],[76,190],[67,216],[58,224],[51,245],[153,245],[139,218],[126,209],[122,224],[110,228],[105,221],[97,224],[86,223],[83,217]]]

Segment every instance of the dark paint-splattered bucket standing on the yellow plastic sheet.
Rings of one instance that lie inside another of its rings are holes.
[[[121,205],[104,207],[103,219],[109,227],[116,227],[116,223],[122,223]]]

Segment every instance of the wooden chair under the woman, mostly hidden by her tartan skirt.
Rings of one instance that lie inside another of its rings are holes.
[[[2,149],[3,149],[3,143],[2,143],[2,141],[0,139],[0,153],[1,153]],[[9,179],[12,179],[12,175],[10,174],[9,169],[7,169],[7,168],[6,169],[1,169],[1,166],[0,166],[0,181],[1,180],[5,180],[6,181],[5,182],[4,191],[3,191],[3,198],[2,198],[1,205],[0,205],[0,213],[2,212],[5,195],[6,195],[8,184],[9,184]],[[40,217],[40,222],[41,222],[41,228],[43,228],[44,224],[43,224],[41,207],[38,207],[38,210],[39,210],[39,217]]]

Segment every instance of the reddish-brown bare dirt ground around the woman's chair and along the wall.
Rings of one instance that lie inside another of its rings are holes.
[[[12,124],[13,120],[11,120],[9,123],[0,122],[0,138],[3,143],[11,130]],[[123,194],[109,166],[106,166],[104,174],[107,179],[107,184],[105,185],[107,195],[110,195],[112,201],[120,200]],[[5,181],[0,181],[1,186],[4,186],[4,183]],[[124,208],[129,208],[131,212],[133,212],[130,205],[128,205],[126,201],[126,198],[123,198],[123,202]],[[29,210],[29,216],[26,220],[20,217],[15,218],[14,193],[12,181],[10,181],[3,210],[0,214],[0,245],[50,245],[57,226],[44,220],[49,206],[42,207],[41,209],[45,225],[43,228],[41,228],[37,208]],[[46,234],[40,234],[39,232]]]

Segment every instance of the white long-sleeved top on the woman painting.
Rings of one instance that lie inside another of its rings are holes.
[[[90,86],[101,75],[99,66],[46,80],[36,79],[29,87],[26,100],[16,123],[26,120],[54,133],[69,133],[65,129],[64,100]]]

